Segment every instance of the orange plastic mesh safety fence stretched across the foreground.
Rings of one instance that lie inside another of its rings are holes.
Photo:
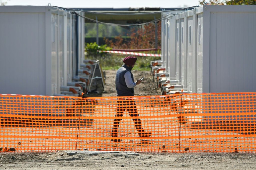
[[[256,93],[0,95],[3,151],[255,152]]]

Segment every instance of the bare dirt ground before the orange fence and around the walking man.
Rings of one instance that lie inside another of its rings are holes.
[[[91,96],[116,96],[115,72],[105,72],[104,93]],[[149,71],[133,70],[135,79],[144,77],[135,87],[135,96],[161,95]],[[0,169],[65,170],[82,169],[256,169],[256,153],[86,153],[0,152]]]

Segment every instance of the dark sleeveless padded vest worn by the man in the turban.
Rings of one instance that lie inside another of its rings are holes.
[[[131,73],[131,70],[126,65],[122,65],[122,67],[117,70],[117,75],[115,77],[115,89],[117,90],[117,96],[134,96],[134,89],[128,88],[125,83],[125,73],[127,71]],[[133,80],[132,73],[131,79]]]

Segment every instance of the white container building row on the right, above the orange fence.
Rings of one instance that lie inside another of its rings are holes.
[[[170,77],[178,75],[184,89],[256,91],[256,5],[203,5],[165,20]]]

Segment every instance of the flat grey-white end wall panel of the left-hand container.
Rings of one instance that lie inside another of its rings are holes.
[[[44,14],[0,12],[0,21],[0,93],[41,94],[39,86],[44,86],[45,80],[40,74],[45,64],[40,58],[40,47],[45,46],[41,41],[45,37],[41,27]]]

